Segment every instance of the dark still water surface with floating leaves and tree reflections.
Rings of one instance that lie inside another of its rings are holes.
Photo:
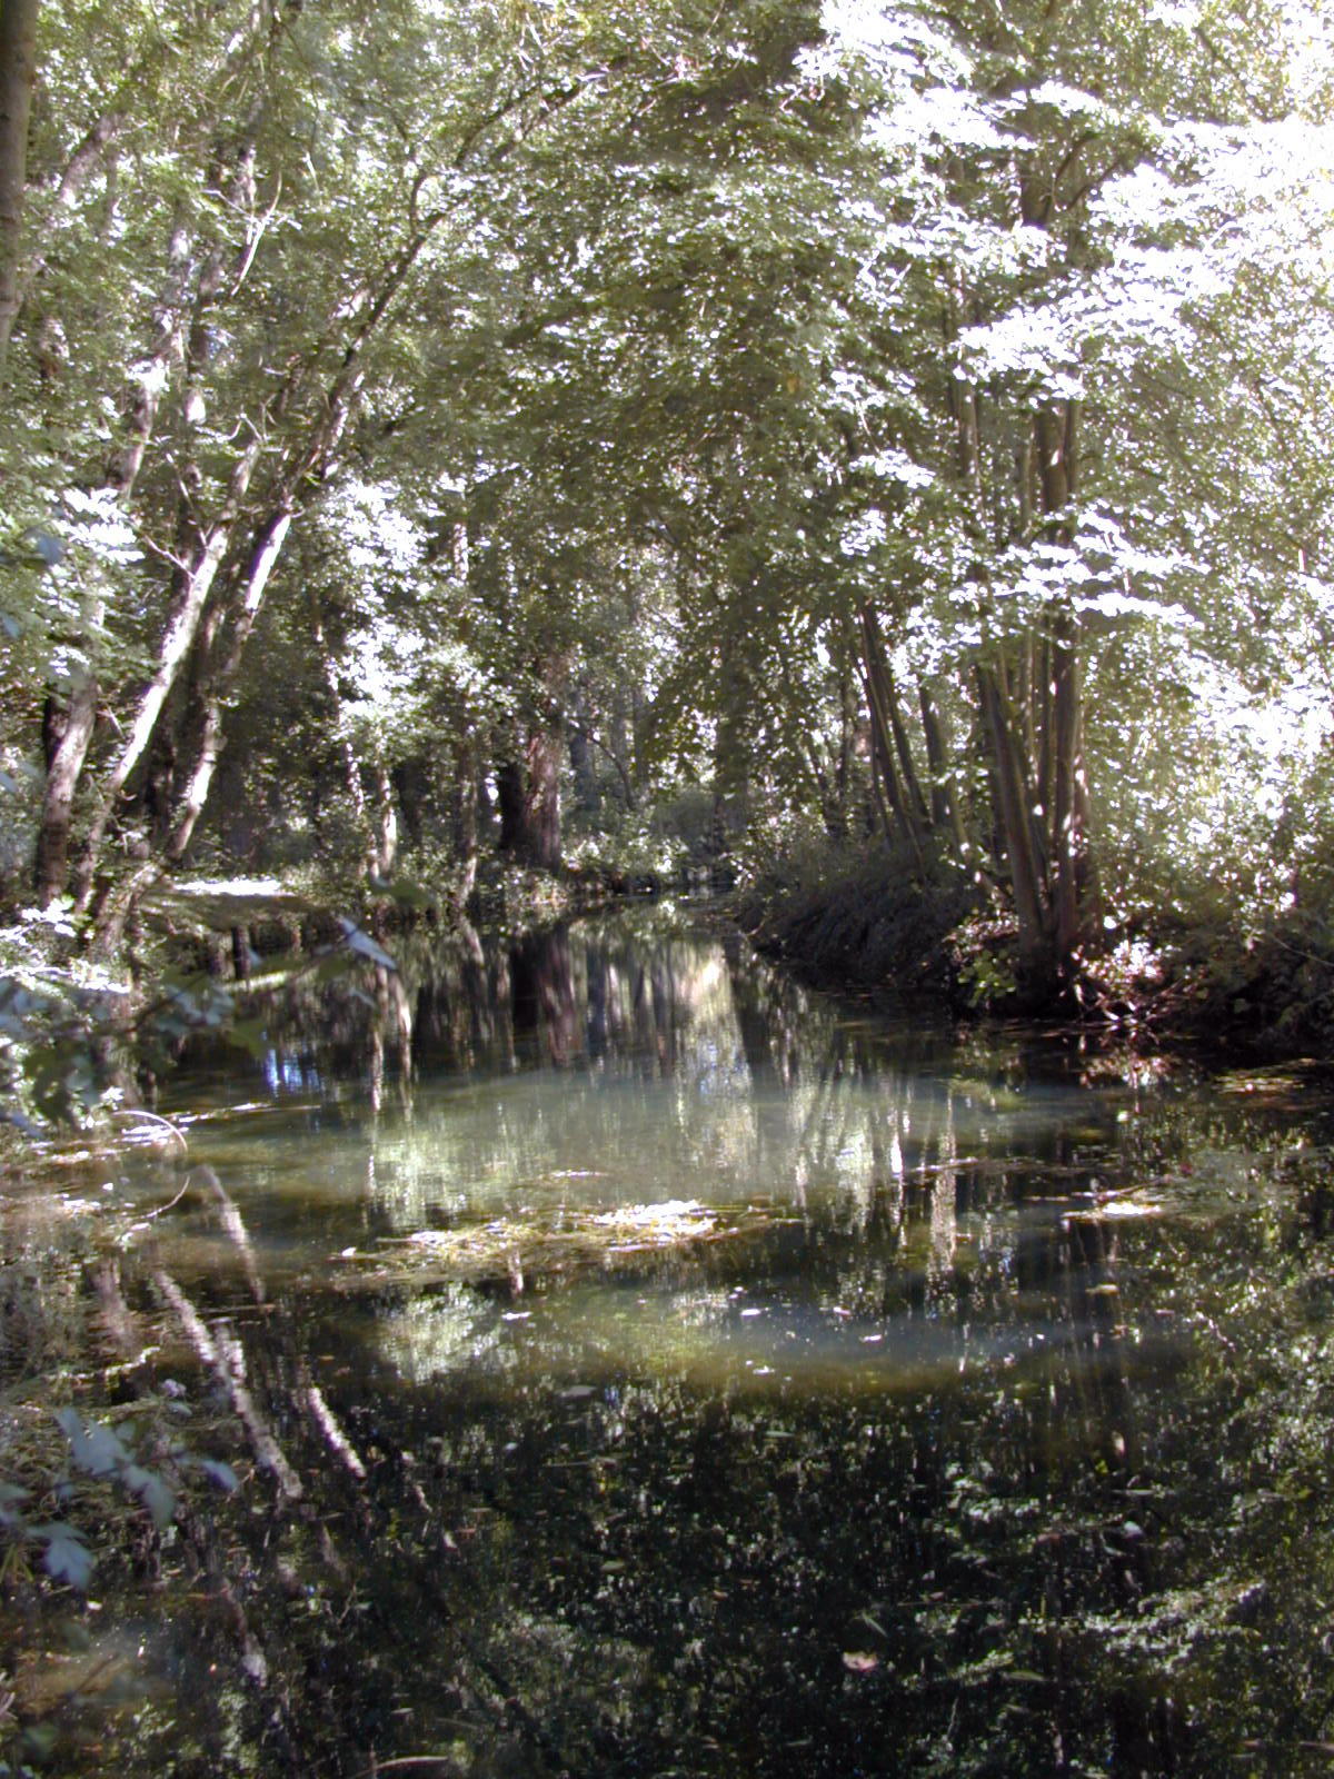
[[[125,1302],[254,1425],[101,1770],[1330,1768],[1313,1073],[959,1041],[649,911],[404,957],[160,1110]]]

